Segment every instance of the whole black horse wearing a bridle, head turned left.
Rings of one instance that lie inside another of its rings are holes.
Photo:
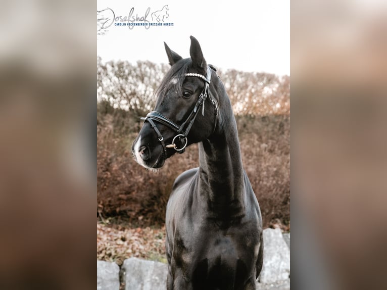
[[[148,168],[199,142],[199,168],[176,178],[166,213],[167,289],[255,289],[263,259],[261,211],[242,166],[225,88],[198,40],[171,69],[132,152]]]

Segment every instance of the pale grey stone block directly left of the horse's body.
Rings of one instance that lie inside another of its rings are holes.
[[[122,265],[125,290],[165,290],[168,266],[137,258],[126,259]]]

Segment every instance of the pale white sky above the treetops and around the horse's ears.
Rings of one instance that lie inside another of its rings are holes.
[[[143,26],[129,29],[110,26],[98,36],[98,55],[103,61],[149,60],[167,63],[164,41],[183,58],[189,57],[189,36],[201,44],[209,64],[218,68],[290,75],[290,1],[238,0],[235,4],[220,1],[176,0],[98,0],[97,9],[110,8],[115,16],[144,16],[168,5],[166,22],[173,26]],[[104,12],[109,13],[111,12]],[[147,20],[151,20],[151,13]]]

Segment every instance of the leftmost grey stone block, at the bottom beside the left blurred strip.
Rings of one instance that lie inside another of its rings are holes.
[[[119,290],[120,267],[116,263],[97,261],[97,289]]]

